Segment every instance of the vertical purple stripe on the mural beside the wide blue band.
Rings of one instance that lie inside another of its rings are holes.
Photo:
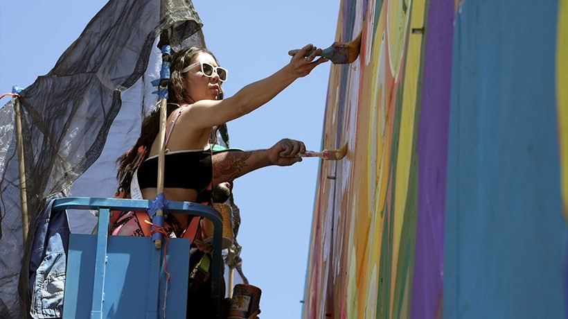
[[[452,77],[452,0],[431,1],[418,128],[418,221],[411,318],[435,318],[443,298],[447,139]]]

